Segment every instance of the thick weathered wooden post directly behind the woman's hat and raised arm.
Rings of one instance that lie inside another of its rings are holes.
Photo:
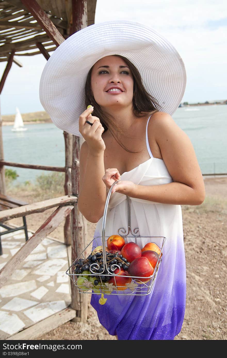
[[[73,33],[87,26],[87,1],[72,1],[72,19]],[[71,33],[72,34],[72,33]],[[79,151],[83,138],[73,135],[73,160],[71,168],[72,194],[79,194]],[[78,210],[77,203],[71,212],[71,260],[75,261],[77,256],[87,246],[87,222]],[[86,294],[80,294],[78,289],[71,282],[71,308],[77,310],[76,318],[80,317],[81,322],[86,322],[88,318],[88,297]]]

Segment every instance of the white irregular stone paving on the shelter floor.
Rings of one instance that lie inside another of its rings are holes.
[[[28,230],[28,236],[32,235]],[[0,270],[24,245],[24,231],[3,235],[1,243]],[[45,238],[21,266],[12,271],[8,281],[0,288],[1,340],[70,305],[70,278],[65,274],[68,268],[66,245]]]

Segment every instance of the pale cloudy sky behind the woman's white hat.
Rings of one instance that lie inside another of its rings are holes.
[[[182,102],[227,99],[226,0],[97,0],[95,23],[132,20],[165,37],[181,55],[187,73]],[[50,53],[51,54],[51,53]],[[18,56],[0,96],[1,115],[43,111],[39,81],[46,63],[42,54]],[[2,76],[6,62],[0,62]]]

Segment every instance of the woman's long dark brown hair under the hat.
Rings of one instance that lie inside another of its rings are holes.
[[[151,115],[152,113],[158,112],[161,110],[161,108],[158,105],[157,100],[152,97],[144,88],[142,83],[142,78],[140,76],[140,73],[138,69],[130,62],[127,58],[121,56],[121,55],[113,55],[122,58],[132,71],[132,76],[134,80],[133,84],[133,114],[135,117],[143,117],[144,115]],[[92,105],[94,107],[94,111],[92,113],[93,116],[98,117],[100,120],[100,123],[104,127],[104,132],[109,129],[115,140],[118,142],[120,146],[122,146],[125,150],[127,150],[130,153],[138,153],[133,152],[129,149],[127,149],[124,144],[120,141],[120,135],[123,135],[122,129],[115,123],[114,117],[111,116],[109,113],[105,112],[101,109],[101,107],[98,105],[98,103],[95,101],[92,89],[91,89],[91,74],[92,74],[92,68],[90,69],[87,80],[85,83],[85,108],[87,108],[88,105]]]

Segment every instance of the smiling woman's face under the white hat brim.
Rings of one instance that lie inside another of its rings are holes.
[[[120,57],[106,56],[94,64],[91,89],[101,107],[132,106],[133,76]]]

